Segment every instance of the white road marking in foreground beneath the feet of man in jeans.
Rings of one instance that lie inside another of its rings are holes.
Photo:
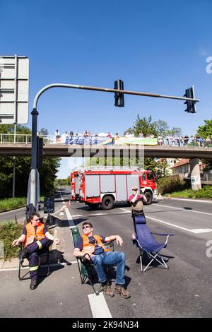
[[[112,318],[102,292],[100,292],[99,295],[89,294],[88,300],[90,302],[93,318]]]

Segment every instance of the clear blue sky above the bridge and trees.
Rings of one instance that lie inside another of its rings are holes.
[[[50,83],[113,88],[121,78],[126,90],[179,96],[194,85],[200,99],[187,114],[179,100],[125,95],[119,108],[113,93],[54,88],[38,102],[38,129],[122,135],[137,114],[151,114],[191,135],[211,119],[210,0],[0,0],[0,12],[0,55],[30,59],[30,112]],[[69,166],[62,162],[60,177]]]

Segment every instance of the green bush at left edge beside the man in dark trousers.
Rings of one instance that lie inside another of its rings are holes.
[[[23,225],[18,225],[8,220],[0,225],[0,241],[4,244],[4,259],[11,259],[18,256],[20,247],[12,247],[14,239],[18,239],[22,232]]]

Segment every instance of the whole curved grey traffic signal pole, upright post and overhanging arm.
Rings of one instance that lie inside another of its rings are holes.
[[[37,102],[46,90],[50,88],[71,88],[71,89],[81,89],[81,90],[93,90],[93,91],[102,91],[105,93],[120,93],[124,95],[141,95],[145,97],[156,97],[156,98],[167,98],[167,99],[177,99],[177,100],[191,100],[192,102],[199,102],[199,99],[192,99],[188,97],[177,97],[172,95],[159,95],[155,93],[144,93],[139,91],[129,91],[129,90],[118,90],[111,88],[99,88],[96,86],[87,86],[87,85],[73,85],[73,84],[64,84],[64,83],[54,83],[46,85],[42,88],[37,95],[35,95],[35,99],[33,102],[33,112],[32,114],[32,153],[31,153],[31,177],[30,177],[30,203],[33,203],[35,208],[37,209],[37,184],[36,184],[36,172],[37,172]]]

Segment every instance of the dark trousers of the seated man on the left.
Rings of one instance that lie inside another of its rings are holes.
[[[47,239],[40,239],[39,243],[33,242],[29,244],[28,249],[28,261],[30,267],[30,278],[37,279],[38,278],[38,268],[39,268],[39,255],[45,254],[52,244],[52,240]]]

